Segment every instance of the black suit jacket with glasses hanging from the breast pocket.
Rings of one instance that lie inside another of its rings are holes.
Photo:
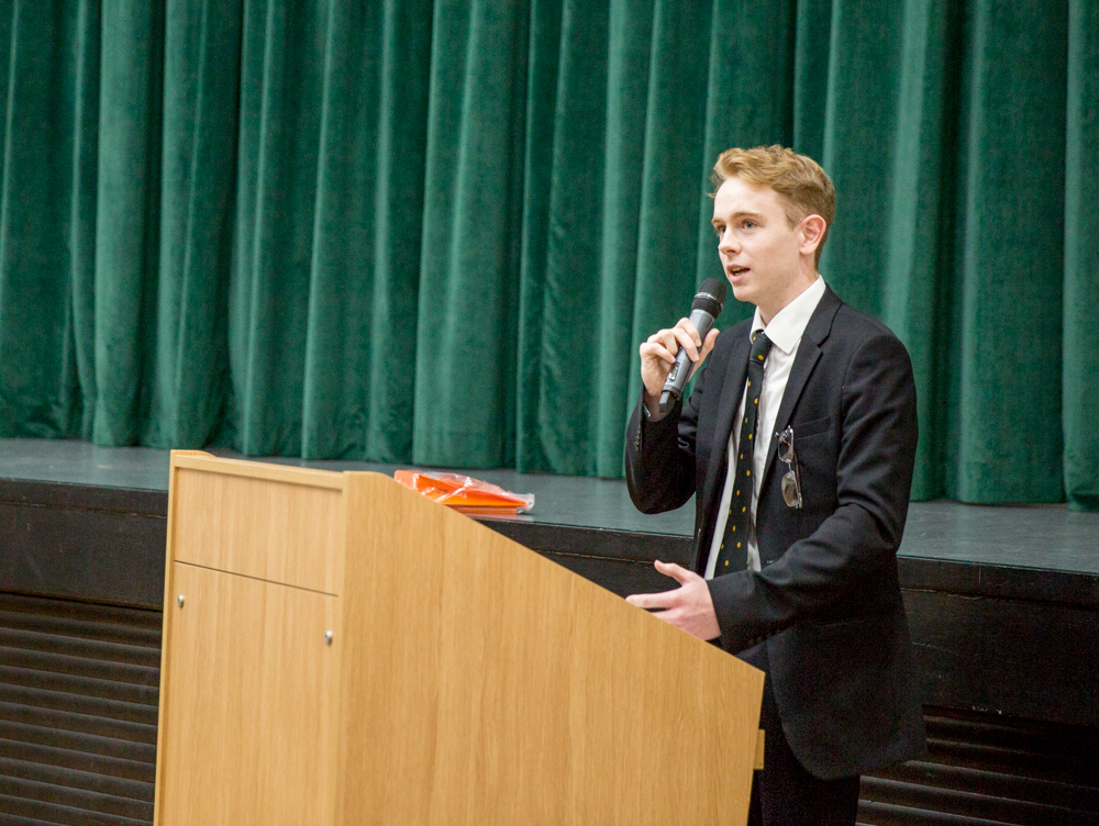
[[[639,400],[630,420],[634,504],[658,513],[698,494],[698,572],[725,480],[750,332],[751,321],[722,331],[686,405],[651,422]],[[925,740],[896,557],[917,443],[912,366],[888,327],[831,289],[790,371],[775,431],[787,425],[803,509],[782,499],[786,465],[767,434],[756,509],[763,569],[715,577],[710,593],[728,651],[766,640],[790,747],[810,772],[834,779],[908,760]]]

